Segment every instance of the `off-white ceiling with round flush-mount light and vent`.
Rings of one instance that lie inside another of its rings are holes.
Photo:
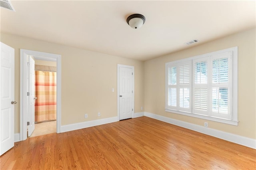
[[[1,32],[148,60],[256,26],[255,1],[15,1]],[[146,22],[135,30],[131,14]],[[184,43],[198,39],[192,45]]]

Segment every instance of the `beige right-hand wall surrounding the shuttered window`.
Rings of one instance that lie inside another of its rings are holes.
[[[165,63],[238,46],[238,126],[208,121],[208,127],[256,139],[256,30],[246,30],[163,57],[146,61],[145,111],[204,125],[206,120],[165,112]]]

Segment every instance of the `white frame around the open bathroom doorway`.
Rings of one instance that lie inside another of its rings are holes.
[[[27,55],[32,55],[35,57],[35,59],[56,61],[57,63],[56,132],[61,132],[61,55],[20,49],[20,141],[27,139]]]

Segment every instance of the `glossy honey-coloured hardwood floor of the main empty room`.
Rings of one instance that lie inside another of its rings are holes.
[[[255,170],[256,150],[139,117],[16,142],[0,168]]]

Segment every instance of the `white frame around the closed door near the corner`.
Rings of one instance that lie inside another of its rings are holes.
[[[120,71],[120,67],[126,67],[126,68],[131,68],[132,69],[132,118],[134,118],[134,111],[135,111],[135,108],[134,108],[134,66],[130,66],[130,65],[122,65],[122,64],[117,64],[117,117],[118,117],[118,121],[120,120],[120,112],[119,112],[119,71]]]

